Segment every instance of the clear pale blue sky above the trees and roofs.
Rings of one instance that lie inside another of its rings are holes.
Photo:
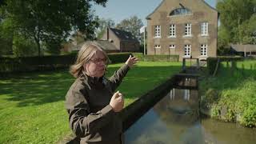
[[[216,0],[205,1],[215,8]],[[99,18],[113,19],[115,24],[137,15],[146,25],[146,16],[151,14],[161,2],[162,0],[108,0],[106,7],[94,5],[93,9]]]

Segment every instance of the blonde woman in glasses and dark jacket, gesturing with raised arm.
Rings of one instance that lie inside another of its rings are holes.
[[[107,79],[104,74],[109,62],[101,46],[96,42],[87,42],[70,67],[70,73],[77,79],[66,94],[66,110],[70,128],[81,139],[80,143],[123,143],[122,121],[117,113],[124,106],[124,98],[119,91],[114,91],[138,58],[130,56]]]

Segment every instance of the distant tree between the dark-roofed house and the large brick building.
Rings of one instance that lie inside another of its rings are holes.
[[[130,18],[122,20],[116,26],[117,29],[129,31],[134,35],[138,40],[141,39],[141,34],[139,29],[143,26],[142,20],[137,16],[131,16]]]

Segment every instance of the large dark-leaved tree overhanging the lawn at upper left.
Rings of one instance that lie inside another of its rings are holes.
[[[72,30],[87,39],[95,37],[98,17],[91,13],[92,2],[105,6],[107,0],[5,0],[1,18],[8,19],[18,33],[33,38],[40,56],[43,43],[56,46]]]

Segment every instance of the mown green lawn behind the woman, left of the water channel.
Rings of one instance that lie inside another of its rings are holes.
[[[128,106],[181,70],[180,62],[139,62],[118,90]],[[109,77],[122,64],[110,65]],[[0,80],[0,143],[54,143],[70,134],[65,95],[68,70],[18,74]]]

